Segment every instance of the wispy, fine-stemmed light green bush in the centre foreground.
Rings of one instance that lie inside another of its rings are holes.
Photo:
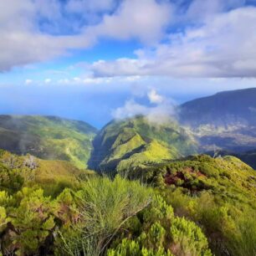
[[[75,193],[79,220],[60,230],[63,253],[99,255],[124,223],[151,202],[151,190],[119,176],[95,177]]]

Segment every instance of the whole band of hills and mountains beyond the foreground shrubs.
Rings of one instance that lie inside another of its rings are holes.
[[[56,116],[0,115],[0,149],[70,161],[79,168],[88,163],[101,171],[228,151],[255,168],[256,88],[191,100],[177,112],[177,120],[165,124],[137,115],[112,120],[99,132],[83,121]]]

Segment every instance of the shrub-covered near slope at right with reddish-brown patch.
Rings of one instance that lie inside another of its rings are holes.
[[[156,187],[178,216],[196,222],[214,255],[256,253],[256,172],[234,156],[189,156],[130,172]]]

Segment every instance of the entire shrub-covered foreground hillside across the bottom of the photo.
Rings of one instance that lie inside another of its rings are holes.
[[[0,151],[0,251],[255,255],[255,187],[255,171],[233,156],[144,164],[111,178]]]

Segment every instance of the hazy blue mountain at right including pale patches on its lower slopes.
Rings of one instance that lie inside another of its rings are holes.
[[[179,107],[178,119],[200,144],[200,152],[256,149],[256,88],[220,92]]]

